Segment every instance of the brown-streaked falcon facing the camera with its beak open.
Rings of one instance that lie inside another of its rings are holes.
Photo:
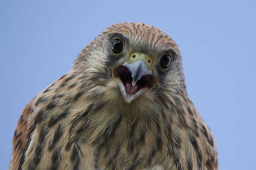
[[[25,106],[9,169],[218,169],[175,41],[144,23],[105,29]]]

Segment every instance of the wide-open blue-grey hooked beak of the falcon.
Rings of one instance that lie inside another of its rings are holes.
[[[144,90],[151,90],[156,86],[156,78],[147,69],[145,60],[138,60],[115,66],[112,70],[114,79],[118,82],[122,97],[127,103],[136,99]]]

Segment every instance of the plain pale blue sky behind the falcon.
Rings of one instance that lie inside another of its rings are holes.
[[[0,1],[0,169],[26,104],[114,23],[159,27],[179,45],[189,96],[220,169],[255,169],[255,1]]]

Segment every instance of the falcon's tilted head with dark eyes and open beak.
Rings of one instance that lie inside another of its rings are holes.
[[[127,104],[186,93],[178,46],[160,29],[142,23],[111,25],[85,47],[73,69],[92,73],[92,88],[105,88]]]

